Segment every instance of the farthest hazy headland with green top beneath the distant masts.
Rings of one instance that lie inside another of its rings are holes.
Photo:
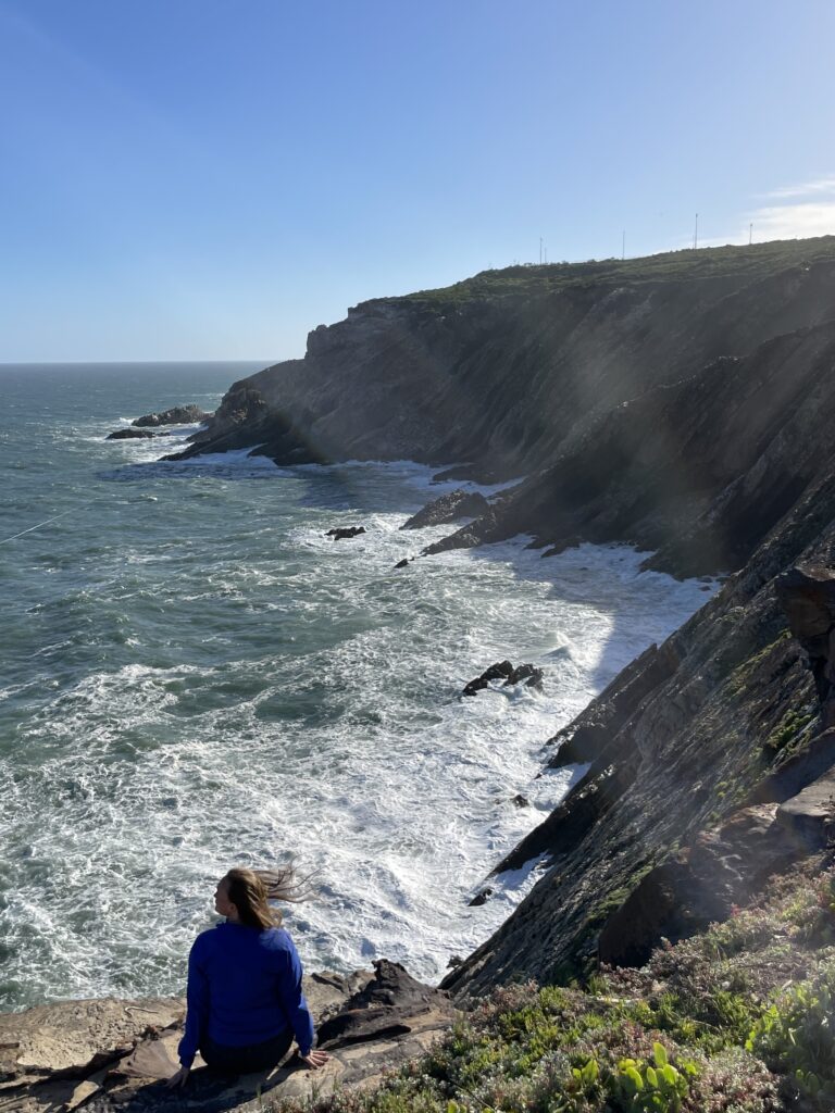
[[[380,299],[234,386],[187,452],[531,472],[595,421],[832,317],[835,239],[490,272]]]

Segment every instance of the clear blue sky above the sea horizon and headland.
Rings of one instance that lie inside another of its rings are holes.
[[[835,233],[833,0],[0,0],[0,362]]]

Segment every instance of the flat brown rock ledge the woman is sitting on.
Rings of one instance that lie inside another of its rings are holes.
[[[0,1109],[69,1113],[81,1105],[114,1110],[194,1109],[206,1113],[261,1107],[284,1097],[370,1085],[384,1070],[421,1054],[455,1016],[446,994],[381,961],[348,977],[313,974],[305,993],[318,1046],[331,1054],[318,1071],[291,1056],[274,1071],[213,1075],[200,1057],[185,1090],[165,1085],[177,1070],[185,1001],[81,1001],[0,1015]]]

